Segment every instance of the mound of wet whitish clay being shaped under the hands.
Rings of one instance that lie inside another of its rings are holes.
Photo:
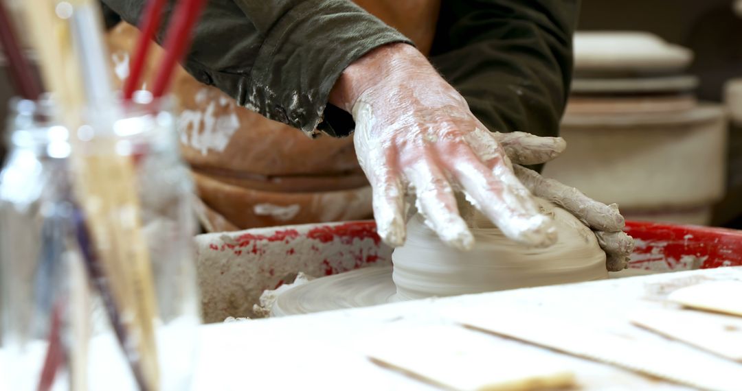
[[[537,287],[608,277],[605,252],[594,233],[571,213],[537,199],[557,227],[557,243],[536,248],[505,237],[482,213],[467,217],[475,244],[454,250],[417,216],[407,224],[407,242],[392,255],[400,300]]]

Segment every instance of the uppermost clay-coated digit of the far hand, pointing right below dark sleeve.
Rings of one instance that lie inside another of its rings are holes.
[[[493,133],[513,164],[542,164],[554,160],[567,148],[561,137],[539,137],[530,133]]]

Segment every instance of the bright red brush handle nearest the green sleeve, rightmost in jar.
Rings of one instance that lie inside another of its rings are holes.
[[[201,15],[205,0],[183,0],[178,4],[172,26],[165,38],[165,59],[160,64],[157,76],[154,78],[152,95],[160,97],[167,90],[177,61],[183,58],[185,49],[191,42],[191,30]]]

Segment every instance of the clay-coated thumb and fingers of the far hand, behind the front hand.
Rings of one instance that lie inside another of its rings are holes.
[[[545,198],[568,210],[579,218],[597,236],[600,247],[605,250],[605,266],[617,272],[626,268],[628,257],[634,250],[634,240],[623,233],[624,220],[616,204],[605,205],[568,187],[544,178],[536,171],[519,164],[541,164],[559,156],[566,144],[562,138],[538,137],[528,133],[495,133],[499,143],[513,161],[516,176],[533,195]]]

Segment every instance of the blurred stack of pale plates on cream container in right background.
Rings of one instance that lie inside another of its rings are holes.
[[[577,33],[562,136],[545,175],[627,218],[708,224],[723,196],[726,118],[683,71],[692,52],[649,33]]]

